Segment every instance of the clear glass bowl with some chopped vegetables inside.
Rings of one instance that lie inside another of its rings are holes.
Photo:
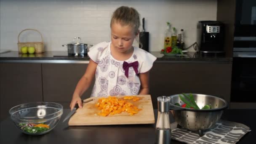
[[[63,114],[63,106],[54,102],[31,102],[20,104],[9,110],[19,130],[29,135],[40,135],[51,131]]]

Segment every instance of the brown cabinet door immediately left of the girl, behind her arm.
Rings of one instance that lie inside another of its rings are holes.
[[[67,108],[75,87],[85,73],[88,64],[42,64],[43,101],[55,101]],[[94,82],[83,94],[82,99],[91,96]]]

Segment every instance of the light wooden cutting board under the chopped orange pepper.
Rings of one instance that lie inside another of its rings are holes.
[[[131,101],[136,107],[141,109],[139,113],[130,116],[127,112],[108,115],[106,117],[97,115],[100,110],[95,106],[101,97],[91,97],[85,99],[83,108],[78,108],[69,119],[69,125],[123,125],[123,124],[149,124],[155,123],[155,116],[150,95],[137,95],[141,97],[139,101]],[[123,96],[118,96],[123,97]],[[129,101],[129,100],[128,100]]]

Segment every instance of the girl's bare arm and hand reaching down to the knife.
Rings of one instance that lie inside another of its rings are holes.
[[[73,109],[75,107],[75,104],[78,104],[80,108],[83,107],[80,97],[91,85],[91,81],[95,76],[97,65],[98,64],[96,62],[90,59],[88,67],[85,71],[85,74],[83,75],[83,77],[81,77],[81,79],[77,83],[77,86],[72,96],[72,101],[70,102],[70,105],[69,105],[70,109]]]

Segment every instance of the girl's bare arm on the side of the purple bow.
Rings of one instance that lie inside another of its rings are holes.
[[[149,71],[139,74],[139,79],[141,81],[141,89],[139,95],[149,94]]]

